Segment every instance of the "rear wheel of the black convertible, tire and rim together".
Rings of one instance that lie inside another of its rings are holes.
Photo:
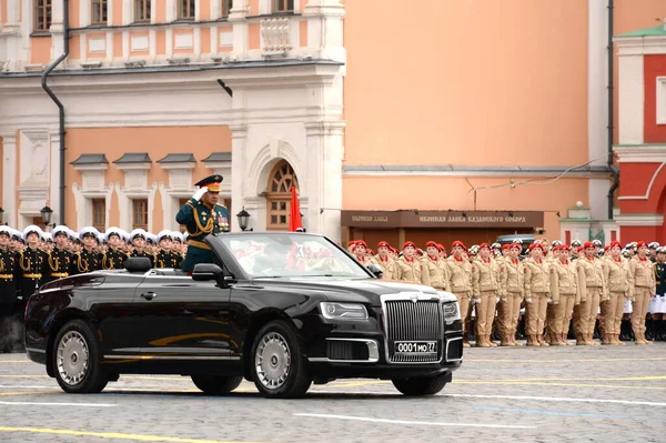
[[[109,374],[100,368],[100,345],[84,321],[65,323],[52,351],[56,380],[64,392],[97,394],[109,383]]]

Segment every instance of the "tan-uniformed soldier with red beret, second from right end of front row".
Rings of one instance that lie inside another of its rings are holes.
[[[622,256],[622,244],[614,241],[608,246],[605,279],[609,300],[602,302],[602,344],[624,345],[619,341],[619,324],[626,301],[634,299],[634,274],[629,261]]]

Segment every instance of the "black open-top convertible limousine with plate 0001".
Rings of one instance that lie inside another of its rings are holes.
[[[26,309],[28,356],[69,393],[101,392],[121,374],[181,374],[210,394],[244,377],[270,397],[344,377],[435,394],[462,363],[451,293],[379,280],[379,266],[322,235],[205,242],[215,263],[191,276],[137,258],[44,284]]]

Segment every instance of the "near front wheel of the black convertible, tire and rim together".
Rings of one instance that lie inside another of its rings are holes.
[[[296,333],[283,321],[266,323],[259,331],[249,359],[252,380],[268,397],[296,399],[312,384]]]

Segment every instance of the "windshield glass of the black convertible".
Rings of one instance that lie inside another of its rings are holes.
[[[219,234],[248,275],[345,276],[367,279],[366,271],[330,240],[291,232]]]

